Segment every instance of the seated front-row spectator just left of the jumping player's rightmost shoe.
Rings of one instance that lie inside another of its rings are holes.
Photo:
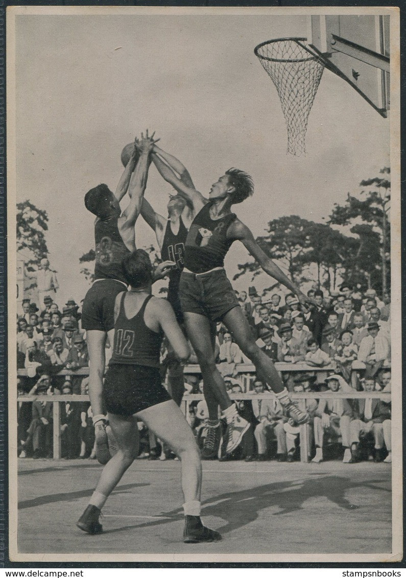
[[[286,460],[286,433],[283,424],[287,418],[283,415],[283,409],[278,399],[269,392],[264,391],[262,381],[254,381],[254,394],[252,399],[252,409],[258,425],[254,429],[254,437],[258,446],[258,459],[264,461],[270,450],[270,441],[272,436],[276,437],[276,459],[278,461]],[[255,397],[261,396],[260,399]],[[263,396],[266,396],[265,398]]]

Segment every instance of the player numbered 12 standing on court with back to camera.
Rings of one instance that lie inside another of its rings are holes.
[[[113,356],[104,387],[105,405],[118,451],[105,465],[77,526],[88,533],[102,531],[101,508],[138,455],[136,418],[139,418],[168,443],[180,459],[184,542],[220,540],[220,534],[204,527],[200,519],[202,471],[193,432],[160,381],[163,335],[171,342],[180,361],[189,358],[189,346],[171,305],[151,294],[152,265],[147,253],[139,249],[124,258],[123,271],[131,287],[116,297]]]

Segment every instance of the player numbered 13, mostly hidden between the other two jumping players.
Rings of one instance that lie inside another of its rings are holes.
[[[193,181],[182,163],[165,151],[157,150],[160,156],[167,161],[169,167],[179,175],[180,180],[187,186],[193,187]],[[193,209],[190,203],[188,204],[180,195],[172,196],[168,202],[168,218],[165,218],[156,213],[150,203],[144,198],[141,206],[141,215],[155,232],[161,251],[161,258],[175,261],[176,263],[176,268],[168,273],[167,299],[175,311],[176,320],[179,324],[183,324],[179,298],[179,281],[183,271],[183,253],[187,231],[194,218]],[[170,347],[168,348],[168,357],[168,390],[172,399],[180,406],[184,392],[183,365],[172,355]]]

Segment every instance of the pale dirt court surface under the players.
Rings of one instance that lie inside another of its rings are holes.
[[[389,553],[390,465],[203,462],[202,518],[222,542],[184,544],[178,461],[136,460],[104,507],[104,533],[76,528],[101,466],[19,460],[20,553]]]

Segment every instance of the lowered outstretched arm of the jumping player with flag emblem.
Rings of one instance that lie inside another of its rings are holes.
[[[287,287],[291,292],[295,293],[301,303],[312,303],[312,305],[317,305],[313,299],[304,295],[296,284],[293,283],[293,281],[291,281],[281,269],[279,269],[278,265],[276,265],[274,261],[264,253],[254,239],[250,229],[241,223],[241,221],[237,219],[230,225],[227,231],[227,237],[241,241],[243,246],[248,250],[249,254],[253,256],[257,263],[259,263],[265,273],[274,277],[276,281],[282,283],[282,285],[285,285],[285,287]]]

